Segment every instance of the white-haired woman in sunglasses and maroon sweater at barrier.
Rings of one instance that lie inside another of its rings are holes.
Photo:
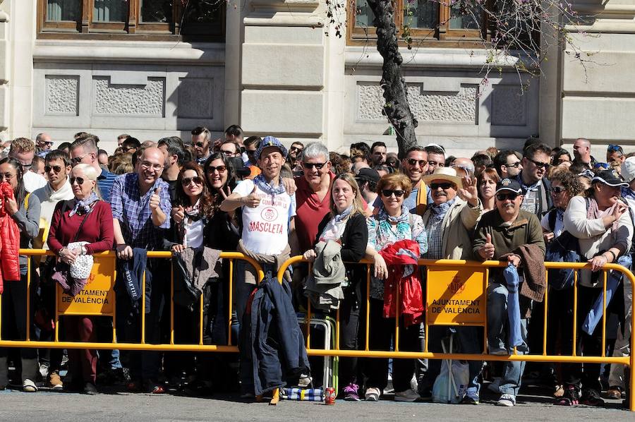
[[[62,263],[71,265],[79,255],[92,255],[110,251],[114,242],[112,210],[107,201],[101,200],[97,188],[97,170],[90,164],[77,164],[71,170],[71,188],[74,198],[57,203],[51,220],[47,243]],[[69,243],[87,242],[80,248]],[[66,316],[66,337],[71,342],[95,341],[94,318]],[[97,393],[97,351],[93,349],[68,349],[68,364],[73,381],[71,391],[86,394]]]

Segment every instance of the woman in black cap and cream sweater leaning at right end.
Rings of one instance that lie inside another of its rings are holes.
[[[564,230],[578,239],[582,262],[591,264],[591,271],[579,271],[577,285],[576,349],[583,350],[586,356],[601,356],[603,352],[602,318],[592,318],[603,313],[601,306],[599,310],[595,306],[603,293],[601,270],[607,263],[618,263],[618,258],[631,248],[633,222],[628,205],[620,199],[621,188],[628,186],[617,171],[599,171],[591,180],[591,188],[584,195],[571,198],[564,212]],[[612,274],[607,277],[610,279]],[[568,293],[573,295],[574,291]],[[563,355],[571,354],[572,343],[572,339],[562,342]],[[564,395],[558,404],[579,401],[589,406],[604,405],[600,398],[599,363],[585,363],[583,367],[579,363],[563,365],[562,373]]]

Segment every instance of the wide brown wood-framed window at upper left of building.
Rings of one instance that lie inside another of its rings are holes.
[[[38,0],[38,37],[220,41],[224,1]]]

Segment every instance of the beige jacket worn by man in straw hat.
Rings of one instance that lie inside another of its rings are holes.
[[[473,230],[480,216],[483,214],[483,203],[478,200],[477,207],[470,207],[458,196],[449,208],[441,227],[443,230],[442,251],[443,258],[449,260],[472,259]],[[428,221],[432,211],[425,210],[423,224],[428,229]]]

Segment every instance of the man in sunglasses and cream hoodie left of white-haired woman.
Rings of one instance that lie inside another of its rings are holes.
[[[33,239],[33,247],[36,249],[48,249],[47,237],[53,217],[53,211],[59,201],[75,198],[71,183],[68,182],[68,173],[71,171],[71,159],[66,152],[54,150],[44,159],[44,171],[48,176],[47,186],[39,188],[33,195],[40,199],[40,233]],[[44,275],[44,260],[40,263],[40,275]],[[50,315],[55,312],[55,284],[45,280],[40,284],[40,298],[47,307]],[[47,337],[48,336],[48,337]],[[40,340],[52,340],[51,333],[42,332]],[[41,349],[40,373],[47,377],[47,387],[61,390],[63,383],[59,376],[61,368],[61,349]]]

